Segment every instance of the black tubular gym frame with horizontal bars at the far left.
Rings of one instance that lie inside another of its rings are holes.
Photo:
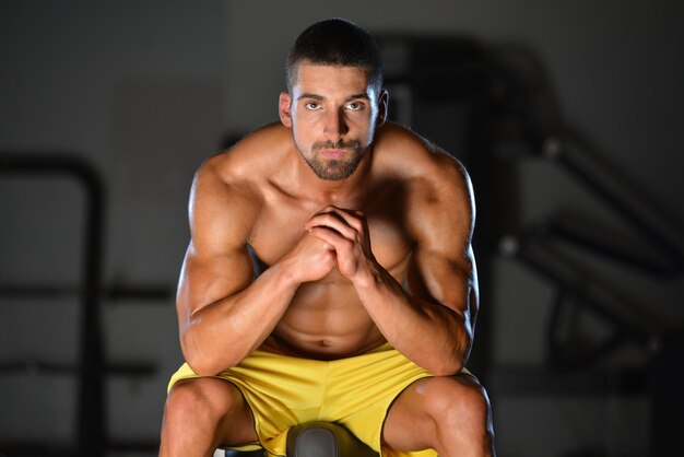
[[[108,449],[155,450],[156,442],[111,441],[107,434],[106,378],[109,375],[150,376],[156,367],[148,362],[107,360],[103,341],[104,301],[158,301],[167,303],[173,288],[153,285],[105,285],[103,281],[106,190],[101,174],[75,154],[55,152],[0,151],[0,176],[64,176],[81,184],[85,195],[84,237],[80,281],[75,285],[45,283],[0,284],[0,296],[10,298],[55,298],[78,296],[79,353],[76,366],[49,361],[2,361],[2,373],[58,373],[78,376],[75,447],[57,448],[50,443],[1,443],[0,454],[15,456],[102,457]]]

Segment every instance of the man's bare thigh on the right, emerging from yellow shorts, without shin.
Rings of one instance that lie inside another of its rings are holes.
[[[486,408],[486,401],[480,383],[467,373],[420,379],[390,408],[382,429],[384,444],[399,450],[434,448],[440,421],[455,415],[468,421],[470,410]]]

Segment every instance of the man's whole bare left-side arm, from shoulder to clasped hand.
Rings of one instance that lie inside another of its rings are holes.
[[[303,231],[299,242],[252,282],[247,242],[260,202],[249,186],[226,183],[217,161],[203,165],[192,186],[192,238],[176,304],[182,353],[202,375],[215,375],[257,349],[299,284],[334,266],[331,247]]]

